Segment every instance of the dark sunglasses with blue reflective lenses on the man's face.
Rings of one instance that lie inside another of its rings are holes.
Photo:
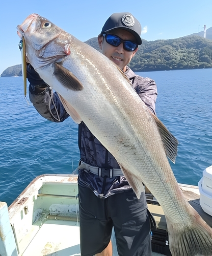
[[[119,46],[123,42],[123,48],[126,51],[133,52],[138,48],[138,45],[135,42],[122,40],[117,35],[102,34],[109,45]]]

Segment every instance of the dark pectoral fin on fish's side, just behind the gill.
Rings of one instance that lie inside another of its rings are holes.
[[[54,75],[58,79],[59,82],[63,84],[64,87],[72,90],[72,91],[82,91],[83,84],[74,74],[72,74],[69,70],[58,64],[54,63],[55,71]]]

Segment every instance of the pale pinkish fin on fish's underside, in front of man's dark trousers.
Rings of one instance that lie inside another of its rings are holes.
[[[119,164],[124,177],[127,179],[129,185],[133,188],[137,198],[139,199],[141,193],[144,192],[144,185],[140,177],[132,174],[127,169],[125,169],[121,164]]]

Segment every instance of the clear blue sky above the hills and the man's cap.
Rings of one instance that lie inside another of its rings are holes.
[[[37,13],[82,41],[97,36],[114,12],[130,12],[150,41],[189,35],[212,27],[211,0],[2,0],[0,9],[0,75],[21,63],[16,26]]]

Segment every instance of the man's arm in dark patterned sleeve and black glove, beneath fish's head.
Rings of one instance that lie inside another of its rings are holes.
[[[65,111],[58,94],[53,92],[30,64],[26,66],[26,77],[30,82],[30,101],[38,113],[52,122],[64,121],[69,115]]]

